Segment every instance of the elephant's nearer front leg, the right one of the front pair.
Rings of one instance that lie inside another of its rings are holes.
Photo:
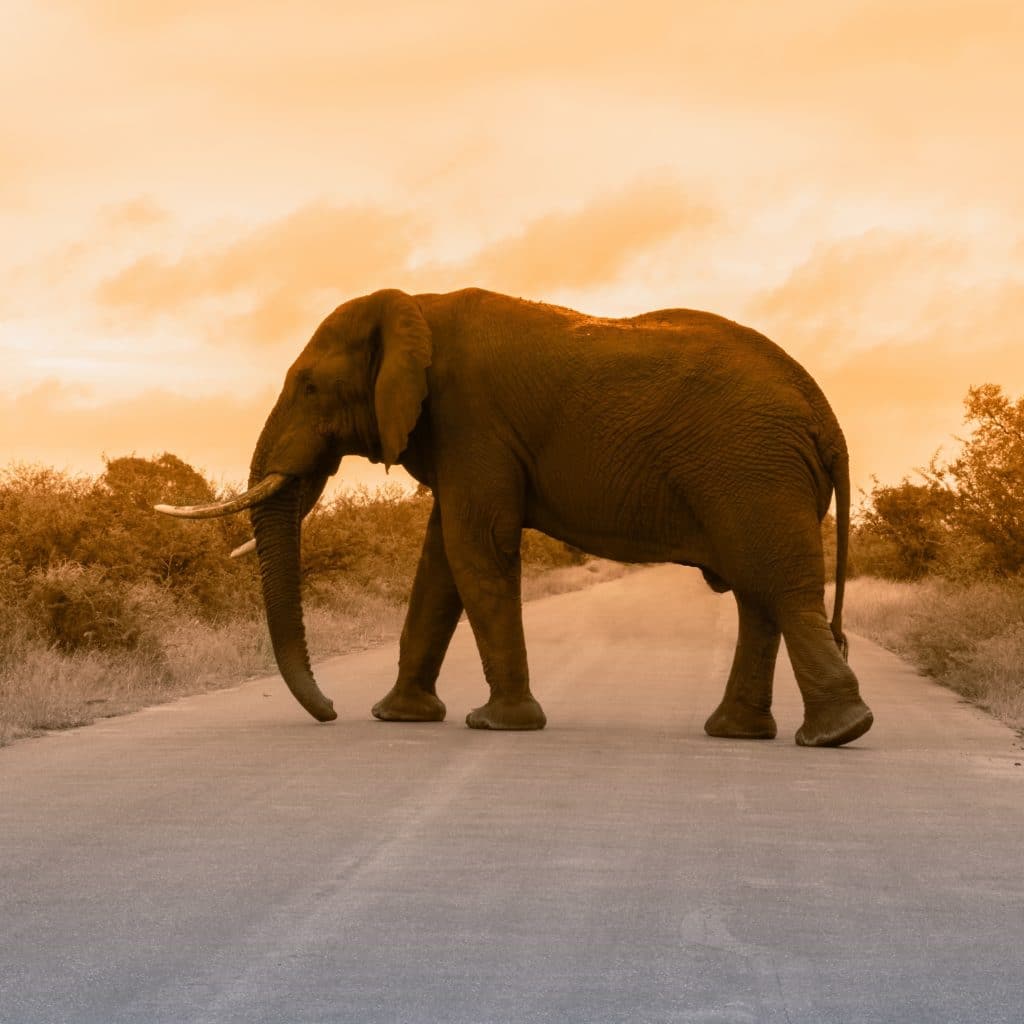
[[[512,500],[444,510],[444,546],[476,638],[490,699],[466,716],[471,729],[543,729],[529,690],[522,632],[520,518]],[[499,511],[501,510],[501,511]]]

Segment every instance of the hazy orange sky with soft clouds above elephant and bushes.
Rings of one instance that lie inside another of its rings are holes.
[[[0,462],[240,481],[383,287],[740,319],[862,486],[1024,391],[1019,3],[2,7]]]

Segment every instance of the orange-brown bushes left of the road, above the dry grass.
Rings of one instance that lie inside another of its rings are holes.
[[[248,517],[181,521],[158,503],[229,497],[176,456],[105,460],[95,479],[15,466],[0,476],[0,610],[8,656],[30,636],[63,651],[134,649],[174,614],[208,624],[260,616],[255,558],[231,559]],[[353,591],[408,600],[430,515],[426,488],[390,484],[321,503],[302,531],[306,603],[336,607]],[[584,556],[527,530],[528,570]]]

